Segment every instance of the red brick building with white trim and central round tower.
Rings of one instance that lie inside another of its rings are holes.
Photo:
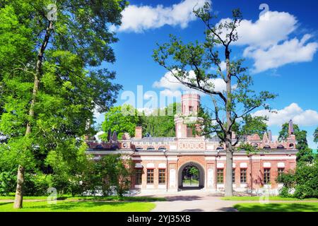
[[[165,193],[182,189],[201,189],[222,192],[225,189],[226,155],[218,138],[205,138],[193,133],[194,121],[200,106],[200,96],[182,95],[182,113],[175,116],[176,137],[143,137],[142,128],[136,127],[134,138],[125,133],[121,140],[116,134],[108,143],[87,140],[88,153],[95,159],[102,155],[121,153],[134,161],[136,174],[131,179],[131,190]],[[196,125],[199,129],[199,124]],[[278,143],[273,141],[271,131],[246,136],[245,143],[254,145],[257,154],[235,151],[232,164],[234,191],[258,193],[268,189],[278,193],[282,186],[276,177],[289,169],[295,169],[296,138],[290,121],[288,138]],[[232,135],[235,139],[235,134]],[[189,173],[196,169],[195,174]]]

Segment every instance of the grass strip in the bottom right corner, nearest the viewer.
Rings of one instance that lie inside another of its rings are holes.
[[[240,212],[318,212],[318,203],[240,203],[233,207]]]

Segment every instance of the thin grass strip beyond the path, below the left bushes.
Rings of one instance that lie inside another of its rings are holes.
[[[0,200],[14,200],[14,196],[0,196]],[[47,200],[47,196],[23,196],[23,200]],[[78,200],[78,201],[136,201],[136,202],[154,202],[166,201],[166,198],[157,198],[149,196],[58,196],[57,200]]]

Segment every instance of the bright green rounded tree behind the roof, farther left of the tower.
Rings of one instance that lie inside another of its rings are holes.
[[[131,114],[132,113],[132,114]],[[131,105],[111,107],[108,112],[105,113],[105,121],[102,122],[103,133],[100,138],[107,141],[107,131],[117,132],[119,138],[122,138],[124,133],[129,133],[130,136],[134,136],[135,128],[139,122],[139,117],[136,109]]]

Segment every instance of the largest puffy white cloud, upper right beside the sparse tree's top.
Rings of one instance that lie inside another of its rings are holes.
[[[230,18],[220,20],[219,23]],[[290,13],[268,11],[257,21],[242,20],[237,28],[239,39],[233,44],[247,46],[243,57],[254,59],[252,72],[259,73],[268,69],[277,69],[290,63],[312,61],[317,52],[317,42],[306,42],[311,35],[302,39],[290,39],[298,28],[298,20]],[[223,38],[226,30],[223,29]]]

